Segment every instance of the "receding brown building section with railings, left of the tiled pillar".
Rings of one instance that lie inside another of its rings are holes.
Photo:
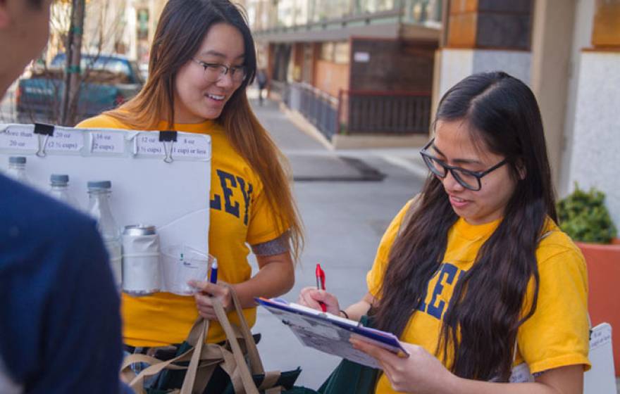
[[[426,135],[442,2],[249,0],[271,92],[332,140]]]

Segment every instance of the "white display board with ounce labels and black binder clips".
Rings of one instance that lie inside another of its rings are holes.
[[[1,171],[11,156],[26,157],[27,177],[42,191],[51,174],[68,174],[70,193],[84,209],[87,182],[109,180],[120,229],[153,224],[162,248],[209,253],[208,135],[0,124]]]

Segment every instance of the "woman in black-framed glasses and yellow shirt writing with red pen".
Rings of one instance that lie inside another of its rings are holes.
[[[376,393],[581,393],[585,261],[557,227],[532,91],[504,72],[471,75],[443,96],[434,127],[421,151],[430,176],[385,231],[368,293],[343,312],[316,288],[299,303],[369,314],[399,336],[408,358],[352,341],[383,367]]]

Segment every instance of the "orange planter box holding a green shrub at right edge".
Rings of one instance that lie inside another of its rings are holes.
[[[614,365],[620,376],[620,239],[611,245],[576,242],[588,265],[588,310],[592,325],[612,325]]]

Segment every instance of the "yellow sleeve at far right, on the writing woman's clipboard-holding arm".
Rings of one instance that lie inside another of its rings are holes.
[[[576,364],[590,369],[585,260],[566,234],[557,231],[553,238],[564,246],[556,241],[555,245],[539,247],[538,303],[517,334],[519,352],[532,374]],[[532,298],[530,286],[528,300]]]

